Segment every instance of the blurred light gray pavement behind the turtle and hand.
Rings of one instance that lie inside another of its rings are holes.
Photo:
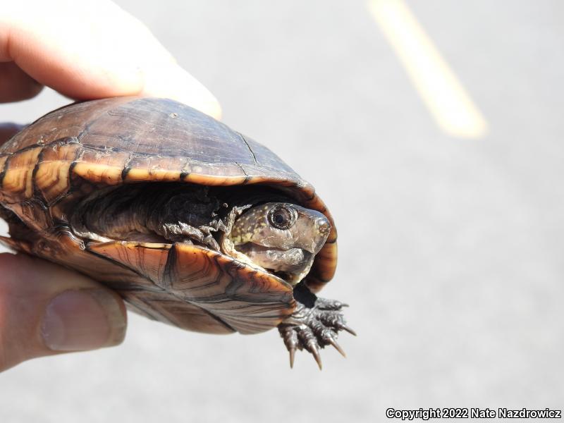
[[[564,407],[564,6],[408,1],[489,132],[446,135],[366,1],[121,0],[225,121],[316,185],[339,231],[344,360],[277,331],[130,315],[118,348],[0,376],[1,422],[377,422],[387,407]],[[46,90],[0,106],[31,121]]]

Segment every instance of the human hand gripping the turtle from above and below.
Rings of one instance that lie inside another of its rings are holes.
[[[98,1],[6,1],[0,16],[0,102],[44,85],[73,99],[169,97],[221,117],[215,97],[138,20]],[[0,125],[0,144],[16,133]],[[86,276],[0,254],[0,371],[34,357],[118,345],[123,301]]]

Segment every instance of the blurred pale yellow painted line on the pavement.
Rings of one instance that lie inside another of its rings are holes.
[[[455,137],[483,137],[486,119],[407,4],[369,0],[368,7],[439,127]]]

